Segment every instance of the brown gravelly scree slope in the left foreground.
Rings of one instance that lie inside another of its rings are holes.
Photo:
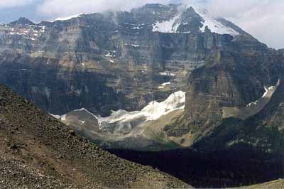
[[[0,86],[0,188],[190,188],[118,158]]]

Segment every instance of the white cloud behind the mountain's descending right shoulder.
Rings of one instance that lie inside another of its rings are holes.
[[[228,18],[269,47],[284,48],[283,0],[212,0],[207,9]]]

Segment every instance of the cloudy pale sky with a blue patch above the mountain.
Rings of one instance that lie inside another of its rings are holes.
[[[200,4],[271,48],[284,48],[284,0],[0,0],[0,22],[54,20],[77,13],[129,11],[147,3]]]

